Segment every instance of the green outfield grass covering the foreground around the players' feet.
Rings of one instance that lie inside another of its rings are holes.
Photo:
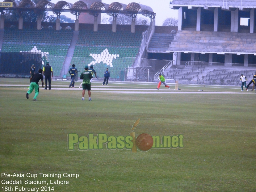
[[[12,85],[0,86],[0,170],[1,174],[24,174],[2,175],[2,181],[22,179],[23,184],[1,184],[0,191],[2,187],[15,191],[15,186],[53,186],[54,192],[255,191],[255,91],[241,93],[239,86],[180,85],[187,93],[171,94],[174,84],[170,90],[163,85],[156,90],[157,83],[109,82],[102,86],[95,81],[92,101],[87,93],[81,101],[82,89],[53,81],[52,90],[40,89],[35,102],[34,92],[26,99],[28,81],[0,78],[0,85]],[[76,82],[75,87],[79,85]],[[148,91],[159,94],[110,92],[113,88],[151,89]],[[209,94],[189,93],[198,90]],[[168,91],[170,94],[164,94]],[[210,94],[216,91],[219,93]],[[68,151],[68,134],[128,136],[138,118],[136,136],[182,134],[184,147],[132,153],[108,150],[106,144],[102,150],[80,151],[75,144]],[[37,177],[27,177],[27,173]],[[40,173],[57,173],[61,178],[43,178]],[[63,177],[63,173],[79,177]],[[24,184],[26,179],[48,185]],[[69,184],[50,184],[50,180]]]

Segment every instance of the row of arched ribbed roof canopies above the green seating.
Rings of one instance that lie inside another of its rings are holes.
[[[107,13],[107,15],[113,17],[116,17],[119,13],[130,17],[136,17],[137,14],[141,14],[151,19],[155,19],[156,16],[156,13],[153,12],[151,7],[134,2],[129,3],[128,5],[119,2],[113,2],[110,5],[103,2],[94,2],[90,4],[84,1],[78,1],[74,4],[66,1],[58,1],[54,4],[47,0],[41,0],[37,4],[31,0],[22,0],[20,3],[17,3],[14,0],[4,0],[4,2],[13,2],[13,6],[0,7],[1,14],[4,14],[5,10],[17,10],[18,12],[33,10],[37,14],[42,13],[42,11],[52,11],[57,16],[60,15],[61,12],[70,12],[76,16],[79,16],[82,12],[94,16],[98,16],[99,13]]]

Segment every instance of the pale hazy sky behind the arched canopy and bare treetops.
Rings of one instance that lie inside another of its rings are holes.
[[[52,0],[51,2],[56,3],[60,0]],[[66,0],[69,3],[75,3],[78,0]],[[178,10],[170,9],[170,0],[139,0],[139,1],[132,1],[132,0],[102,0],[103,3],[111,4],[112,2],[120,2],[128,5],[131,2],[140,3],[143,5],[150,6],[154,13],[156,13],[156,25],[162,25],[163,21],[166,18],[172,17],[178,19]],[[49,15],[54,15],[52,12],[49,12]],[[67,17],[75,20],[75,15],[69,14],[67,12],[62,12],[61,15],[66,15]],[[103,15],[103,14],[102,14]],[[56,16],[56,15],[54,15]],[[142,15],[137,15],[137,17],[142,17]]]

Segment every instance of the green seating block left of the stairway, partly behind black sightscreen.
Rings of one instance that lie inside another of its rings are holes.
[[[2,52],[31,52],[36,46],[38,52],[49,53],[50,65],[54,69],[54,74],[59,76],[72,34],[71,30],[6,29],[3,35]]]

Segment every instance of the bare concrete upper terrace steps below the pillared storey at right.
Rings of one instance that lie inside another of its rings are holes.
[[[256,50],[256,34],[213,31],[178,31],[168,50],[254,53]]]

